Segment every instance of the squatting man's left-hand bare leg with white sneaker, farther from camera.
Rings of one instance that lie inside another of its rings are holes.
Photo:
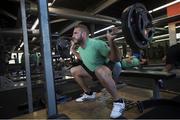
[[[77,98],[77,102],[82,102],[85,100],[95,99],[95,92],[92,92],[88,85],[86,84],[87,80],[92,80],[92,77],[84,70],[81,65],[75,66],[70,70],[72,76],[74,77],[75,81],[80,85],[83,89],[84,94],[82,97]]]

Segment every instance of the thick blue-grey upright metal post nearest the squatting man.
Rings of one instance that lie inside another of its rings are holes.
[[[49,16],[48,16],[47,0],[39,0],[39,18],[40,30],[42,38],[43,60],[45,68],[45,83],[47,92],[47,107],[48,117],[57,116],[57,106],[54,88],[54,76],[52,68],[51,44],[50,44],[50,30],[49,30]]]

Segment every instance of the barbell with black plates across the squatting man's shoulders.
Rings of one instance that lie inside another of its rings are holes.
[[[122,12],[121,22],[126,43],[132,50],[146,48],[152,41],[155,28],[152,24],[152,16],[143,4],[136,3],[128,6]],[[69,57],[69,44],[67,39],[57,40],[56,48],[62,57]]]

